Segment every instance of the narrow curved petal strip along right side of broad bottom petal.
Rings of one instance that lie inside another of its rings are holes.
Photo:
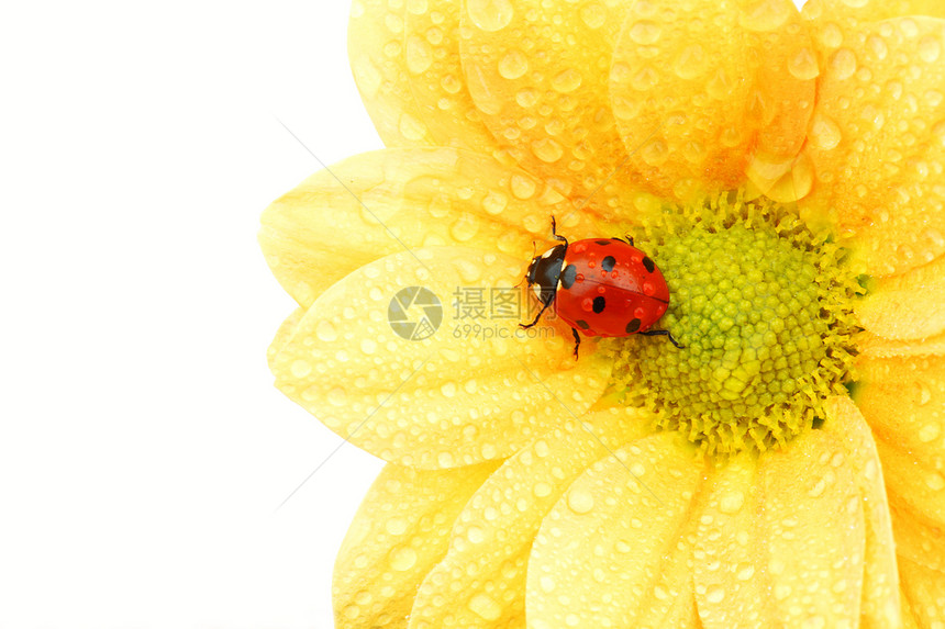
[[[863,498],[866,558],[860,627],[898,627],[901,603],[897,586],[896,541],[876,442],[869,426],[849,397],[829,400],[826,415],[824,429],[844,447],[847,464],[853,469]]]

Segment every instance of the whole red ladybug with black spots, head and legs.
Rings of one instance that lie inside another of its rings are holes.
[[[633,238],[588,238],[568,243],[557,234],[552,216],[552,236],[559,240],[529,265],[525,281],[535,291],[542,310],[530,324],[538,323],[551,306],[571,326],[575,358],[581,337],[665,336],[682,349],[667,329],[649,329],[669,306],[666,279],[649,257],[633,246]]]

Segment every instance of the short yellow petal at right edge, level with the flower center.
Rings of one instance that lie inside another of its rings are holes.
[[[945,332],[945,256],[894,278],[880,278],[856,304],[866,329],[887,338]]]

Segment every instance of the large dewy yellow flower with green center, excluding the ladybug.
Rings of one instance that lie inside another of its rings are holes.
[[[388,461],[340,627],[945,622],[943,13],[355,0],[390,148],[260,233],[277,385]],[[634,235],[686,349],[519,333],[552,215]]]

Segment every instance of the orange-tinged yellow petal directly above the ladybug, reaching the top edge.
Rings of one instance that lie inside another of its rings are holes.
[[[522,168],[577,206],[634,223],[638,173],[627,169],[607,96],[630,4],[467,0],[460,50],[482,120]]]

